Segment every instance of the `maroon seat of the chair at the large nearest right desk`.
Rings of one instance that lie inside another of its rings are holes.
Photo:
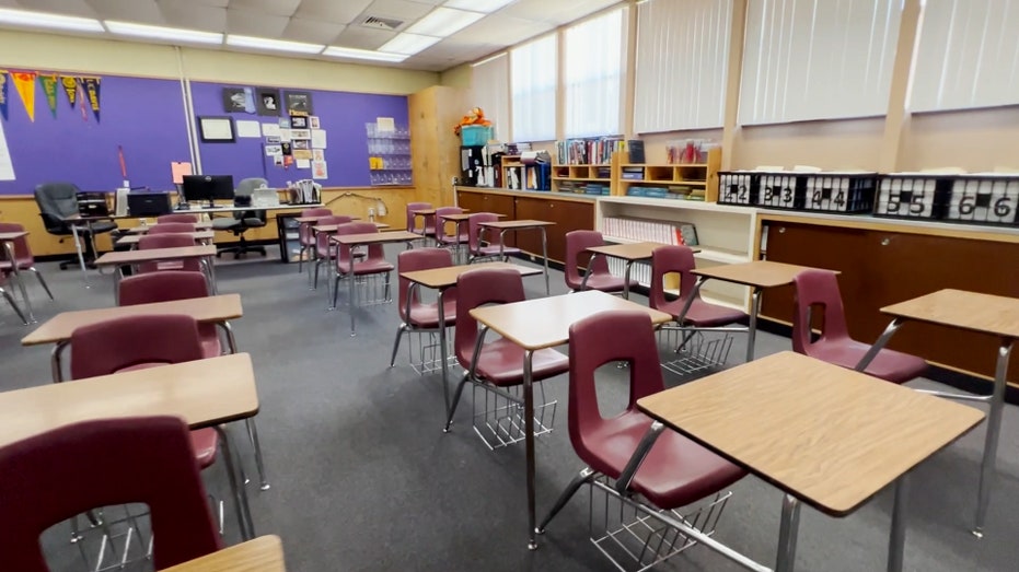
[[[583,462],[613,479],[618,478],[637,450],[651,419],[628,411],[582,435],[593,453]],[[584,455],[587,456],[587,455]],[[675,431],[665,430],[645,458],[630,488],[660,509],[678,509],[725,489],[746,471],[694,443]]]

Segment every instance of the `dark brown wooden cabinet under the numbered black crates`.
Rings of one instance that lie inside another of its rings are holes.
[[[845,227],[768,220],[768,260],[839,270],[849,334],[872,342],[891,319],[880,308],[946,288],[1019,297],[1019,243],[887,229]],[[789,323],[792,288],[763,296],[762,315]],[[998,340],[992,336],[918,323],[889,345],[928,361],[991,376]],[[1009,380],[1019,381],[1019,360]]]

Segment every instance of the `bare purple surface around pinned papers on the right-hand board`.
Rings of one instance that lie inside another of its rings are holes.
[[[196,116],[230,116],[234,121],[277,121],[278,117],[223,112],[223,87],[259,87],[263,85],[192,82],[192,101]],[[280,89],[282,96],[286,89]],[[322,129],[327,133],[325,159],[329,178],[320,180],[323,186],[354,187],[370,184],[368,170],[368,138],[364,124],[377,117],[393,117],[396,125],[407,125],[407,97],[404,95],[373,95],[364,93],[303,90],[312,94],[312,105]],[[236,130],[236,129],[234,129]],[[246,177],[265,177],[270,186],[279,187],[287,180],[311,178],[310,168],[288,168],[273,164],[265,156],[264,139],[238,138],[233,143],[205,143],[199,141],[201,170],[207,175],[233,175],[234,183]]]

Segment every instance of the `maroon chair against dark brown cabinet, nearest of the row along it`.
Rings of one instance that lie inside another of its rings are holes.
[[[827,270],[803,270],[792,280],[796,287],[792,315],[792,350],[821,361],[856,369],[870,346],[849,337],[838,278]],[[823,312],[821,336],[812,340],[811,314]],[[927,362],[915,355],[882,349],[864,373],[892,383],[905,383],[927,371]]]

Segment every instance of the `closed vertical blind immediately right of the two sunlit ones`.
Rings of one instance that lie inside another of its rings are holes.
[[[634,131],[721,127],[732,0],[637,7]]]

